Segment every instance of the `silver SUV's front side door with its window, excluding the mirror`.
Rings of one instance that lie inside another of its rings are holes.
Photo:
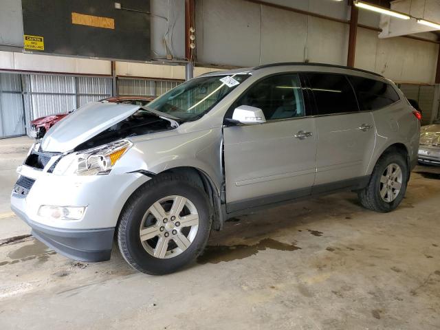
[[[228,212],[309,195],[315,179],[316,126],[297,74],[256,82],[233,107],[263,110],[267,122],[223,129]]]

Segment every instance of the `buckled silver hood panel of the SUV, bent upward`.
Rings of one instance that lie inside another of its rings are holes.
[[[133,104],[87,103],[52,126],[41,141],[41,148],[49,152],[71,151],[113,124],[129,117],[139,108]]]

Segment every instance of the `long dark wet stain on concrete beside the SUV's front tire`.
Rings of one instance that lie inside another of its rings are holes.
[[[259,243],[254,245],[210,245],[205,248],[203,254],[197,259],[197,262],[206,264],[244,259],[266,249],[295,251],[300,250],[301,248],[298,248],[296,243],[281,243],[274,239],[262,239]]]

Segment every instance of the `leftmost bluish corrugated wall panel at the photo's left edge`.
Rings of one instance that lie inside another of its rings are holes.
[[[25,118],[21,98],[21,76],[0,74],[0,137],[23,135]]]

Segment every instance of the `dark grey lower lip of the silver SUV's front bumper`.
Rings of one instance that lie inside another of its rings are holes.
[[[94,230],[63,230],[50,228],[29,219],[19,208],[12,210],[23,219],[30,228],[32,235],[56,252],[70,259],[96,263],[110,260],[113,234],[115,228]]]

